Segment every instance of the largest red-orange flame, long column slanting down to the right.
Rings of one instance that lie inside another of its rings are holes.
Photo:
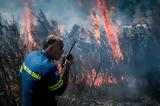
[[[108,10],[105,8],[105,0],[97,0],[98,8],[103,18],[105,32],[108,38],[109,45],[112,49],[113,55],[116,60],[123,60],[123,54],[120,49],[118,41],[118,28],[113,24],[112,20],[109,18]]]

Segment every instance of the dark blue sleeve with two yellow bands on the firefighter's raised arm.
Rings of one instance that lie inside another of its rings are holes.
[[[48,89],[55,95],[62,95],[65,91],[67,84],[64,83],[63,79],[60,77],[57,66],[54,65],[46,73],[45,79],[47,81]]]

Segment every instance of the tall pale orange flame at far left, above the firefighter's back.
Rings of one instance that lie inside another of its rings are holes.
[[[28,42],[28,49],[29,51],[32,50],[32,46],[35,45],[34,39],[32,37],[32,33],[31,33],[31,25],[33,22],[33,16],[30,10],[30,5],[29,5],[29,0],[24,0],[24,35],[27,36],[25,37],[26,42]]]

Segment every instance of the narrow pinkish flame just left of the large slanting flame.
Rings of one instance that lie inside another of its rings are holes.
[[[92,10],[92,25],[95,29],[95,38],[96,38],[96,42],[98,44],[100,44],[100,28],[99,28],[99,17],[96,15],[95,10]]]

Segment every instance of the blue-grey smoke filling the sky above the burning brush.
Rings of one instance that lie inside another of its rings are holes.
[[[32,7],[42,9],[48,20],[54,19],[71,30],[74,24],[85,26],[93,8],[97,9],[97,0],[30,0]],[[111,17],[123,25],[131,24],[137,17],[149,17],[158,6],[158,0],[106,0],[109,11],[115,10]],[[13,14],[23,25],[24,0],[0,0],[0,12],[7,18]]]

